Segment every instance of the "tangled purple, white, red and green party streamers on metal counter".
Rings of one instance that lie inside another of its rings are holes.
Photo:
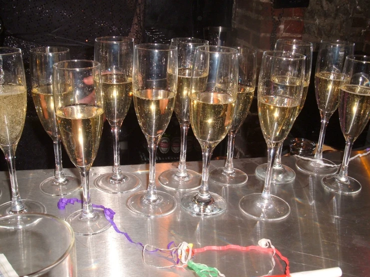
[[[74,204],[75,202],[82,203],[83,201],[78,198],[60,198],[58,201],[58,208],[59,209],[65,209],[67,204]],[[143,244],[141,242],[134,242],[131,237],[129,236],[128,233],[120,231],[114,222],[114,215],[116,212],[110,208],[106,208],[103,205],[96,205],[92,204],[93,207],[95,208],[101,208],[104,210],[104,215],[107,218],[107,220],[112,224],[114,230],[118,233],[122,233],[125,235],[127,240],[131,243],[138,244],[143,247],[143,261],[145,264],[155,266],[157,268],[169,268],[169,267],[181,267],[181,268],[189,268],[190,270],[194,270],[195,273],[199,277],[225,277],[224,274],[222,274],[216,267],[210,267],[206,264],[202,263],[196,263],[192,259],[196,253],[201,253],[204,251],[209,251],[209,250],[227,250],[227,249],[236,249],[236,250],[241,250],[241,251],[249,251],[249,250],[258,250],[262,252],[270,252],[272,253],[272,268],[271,270],[268,271],[267,275],[271,274],[273,268],[275,267],[275,260],[274,260],[274,255],[275,253],[281,258],[281,260],[285,261],[286,263],[286,268],[285,268],[285,274],[289,276],[289,261],[286,257],[282,256],[281,253],[272,245],[271,241],[269,239],[262,238],[258,241],[258,246],[240,246],[240,245],[234,245],[234,244],[229,244],[229,245],[224,245],[224,246],[205,246],[202,248],[193,248],[192,243],[187,243],[185,241],[181,242],[179,245],[176,246],[174,241],[171,241],[168,243],[167,248],[159,248],[150,244]],[[173,247],[171,247],[173,246]],[[148,249],[151,247],[151,249]],[[171,256],[171,259],[173,260],[174,264],[166,265],[166,266],[158,266],[155,264],[150,264],[145,260],[146,254],[154,253],[154,252],[160,252],[161,254],[167,254]],[[267,276],[263,275],[263,276]]]

